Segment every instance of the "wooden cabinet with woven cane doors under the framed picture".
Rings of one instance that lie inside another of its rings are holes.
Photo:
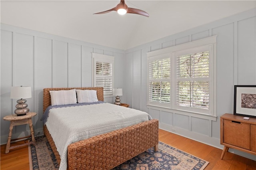
[[[220,117],[220,144],[224,145],[220,159],[228,148],[256,154],[256,118],[224,114]]]

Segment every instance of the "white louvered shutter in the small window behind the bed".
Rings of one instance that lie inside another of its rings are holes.
[[[96,61],[96,87],[104,87],[104,94],[112,94],[112,63]]]

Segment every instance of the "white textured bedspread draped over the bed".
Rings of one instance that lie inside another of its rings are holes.
[[[110,103],[51,109],[46,126],[67,168],[68,145],[152,119],[146,112]]]

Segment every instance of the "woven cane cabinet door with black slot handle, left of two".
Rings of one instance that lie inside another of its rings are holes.
[[[250,150],[250,124],[223,120],[223,141]]]

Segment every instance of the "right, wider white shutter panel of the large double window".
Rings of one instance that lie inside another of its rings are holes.
[[[209,51],[177,56],[176,64],[177,105],[209,109]]]

